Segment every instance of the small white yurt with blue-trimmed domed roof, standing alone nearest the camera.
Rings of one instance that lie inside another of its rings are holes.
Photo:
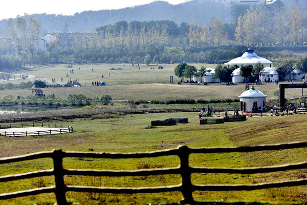
[[[266,97],[264,93],[258,91],[252,85],[250,90],[243,92],[240,96],[240,111],[242,112],[250,112],[253,111],[255,107],[259,110],[261,107],[262,111],[266,110]]]

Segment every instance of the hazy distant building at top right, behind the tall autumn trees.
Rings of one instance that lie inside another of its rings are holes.
[[[264,6],[271,10],[271,13],[278,13],[279,8],[284,6],[280,0],[231,0],[230,23],[237,25],[238,17],[243,16],[251,6]]]

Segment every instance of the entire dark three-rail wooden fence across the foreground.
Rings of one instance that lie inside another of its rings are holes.
[[[181,203],[194,203],[192,193],[194,191],[243,191],[258,190],[268,188],[290,187],[307,185],[307,178],[292,179],[287,181],[275,181],[265,183],[255,183],[247,185],[193,185],[191,182],[191,174],[193,173],[228,173],[228,174],[256,174],[280,172],[286,170],[306,169],[307,162],[291,163],[287,165],[254,167],[254,168],[212,168],[212,167],[189,167],[189,155],[192,153],[231,153],[231,152],[256,152],[264,150],[280,150],[293,148],[306,148],[307,142],[293,142],[290,144],[277,145],[259,145],[253,147],[228,147],[228,148],[188,148],[179,146],[176,149],[167,149],[152,152],[140,153],[103,153],[103,152],[63,152],[62,150],[54,150],[49,152],[39,152],[15,157],[0,158],[0,164],[20,162],[25,160],[33,160],[40,158],[52,158],[53,169],[28,172],[23,174],[1,176],[0,182],[14,181],[19,179],[27,179],[42,176],[54,176],[55,186],[35,188],[25,191],[17,191],[12,193],[0,194],[0,200],[11,199],[22,196],[36,195],[41,193],[55,193],[58,204],[68,204],[65,193],[72,192],[96,192],[96,193],[114,193],[114,194],[133,194],[133,193],[160,193],[179,191],[183,194],[184,200]],[[158,168],[158,169],[142,169],[142,170],[80,170],[80,169],[64,169],[63,158],[65,157],[91,157],[91,158],[107,158],[107,159],[126,159],[126,158],[148,158],[177,155],[180,158],[180,166],[175,168]],[[165,187],[142,187],[142,188],[111,188],[111,187],[86,187],[86,186],[67,186],[64,183],[64,175],[81,175],[81,176],[150,176],[161,174],[179,174],[182,183],[179,185]]]

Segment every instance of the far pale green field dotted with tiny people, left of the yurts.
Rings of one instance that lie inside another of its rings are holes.
[[[216,65],[211,64],[192,64],[196,68],[200,69],[201,66],[207,68],[214,68]],[[61,77],[63,78],[63,83],[67,83],[68,80],[77,79],[82,86],[92,86],[93,81],[104,81],[107,85],[131,85],[131,84],[151,84],[159,83],[169,83],[169,76],[173,76],[174,83],[177,83],[179,78],[174,75],[174,68],[177,64],[159,64],[159,65],[145,65],[140,64],[140,69],[138,64],[134,67],[131,64],[88,64],[88,65],[73,65],[73,68],[65,68],[64,64],[54,65],[54,66],[43,66],[39,68],[34,68],[29,71],[21,70],[20,73],[16,74],[16,77],[21,75],[36,75],[37,77],[33,79],[45,79],[47,78],[48,84],[62,84]],[[163,69],[158,69],[159,66],[163,66]],[[80,70],[79,70],[80,68]],[[93,68],[93,72],[92,72]],[[122,68],[123,70],[109,70],[110,68]],[[155,68],[155,69],[150,69]],[[74,73],[70,71],[74,70]],[[110,74],[110,76],[109,76]],[[66,77],[68,75],[68,77]],[[102,78],[103,75],[103,78]],[[56,79],[55,83],[52,83],[52,78]],[[13,79],[13,77],[11,77]],[[28,80],[28,79],[26,79]],[[23,79],[13,80],[12,83],[20,83],[25,81]]]

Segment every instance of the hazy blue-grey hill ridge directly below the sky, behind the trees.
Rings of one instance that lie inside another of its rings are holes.
[[[293,5],[294,0],[281,0],[286,5]],[[299,5],[307,6],[307,1],[299,0]],[[120,20],[172,20],[180,25],[182,22],[197,25],[208,25],[210,18],[220,15],[226,23],[230,23],[230,0],[192,0],[178,5],[156,1],[150,4],[127,7],[118,10],[83,11],[73,16],[55,14],[33,14],[40,20],[43,33],[63,32],[63,24],[69,26],[68,32],[92,31],[98,27],[115,24]],[[23,16],[29,18],[31,15]],[[0,31],[5,29],[7,20],[0,21]]]

